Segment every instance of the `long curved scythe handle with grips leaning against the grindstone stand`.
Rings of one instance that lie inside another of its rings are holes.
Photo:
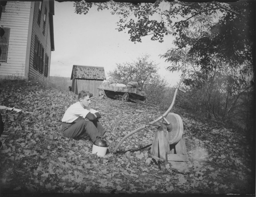
[[[182,91],[182,92],[184,92],[184,93],[186,93],[185,90],[182,90],[182,89],[179,88],[179,86],[180,86],[180,84],[182,83],[182,81],[183,81],[183,79],[184,79],[185,76],[186,76],[185,74],[182,75],[179,84],[178,84],[177,87],[175,88],[175,92],[174,92],[174,96],[173,96],[173,101],[172,101],[170,107],[166,110],[166,112],[165,112],[162,116],[160,116],[159,118],[157,118],[157,119],[155,119],[155,120],[149,122],[148,124],[144,124],[143,126],[137,128],[137,129],[131,131],[130,133],[128,133],[127,135],[125,135],[125,136],[122,138],[122,140],[120,140],[120,142],[115,146],[113,152],[116,152],[116,151],[117,151],[117,149],[119,148],[119,146],[123,143],[123,141],[124,141],[127,137],[131,136],[132,134],[136,133],[137,131],[140,131],[140,130],[142,130],[142,129],[145,129],[146,127],[148,127],[148,126],[150,126],[150,125],[152,125],[152,124],[158,122],[158,121],[161,120],[161,119],[163,119],[168,125],[170,124],[170,123],[166,120],[165,117],[168,115],[168,113],[170,112],[170,110],[173,108],[174,101],[175,101],[175,99],[176,99],[176,95],[177,95],[178,90],[179,90],[179,91]]]

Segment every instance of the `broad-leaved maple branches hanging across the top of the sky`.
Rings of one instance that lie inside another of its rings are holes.
[[[155,3],[138,4],[114,1],[103,3],[79,1],[74,3],[74,7],[77,14],[87,14],[92,6],[97,7],[98,11],[110,9],[112,15],[120,17],[117,22],[117,29],[119,31],[127,29],[130,40],[133,42],[141,42],[141,37],[147,35],[152,35],[152,40],[163,42],[164,35],[171,33],[177,38],[176,43],[182,45],[187,37],[184,29],[193,23],[198,16],[203,15],[211,16],[226,25],[229,25],[228,20],[230,19],[242,20],[242,26],[234,27],[239,30],[237,34],[253,37],[254,28],[248,29],[248,27],[254,23],[254,4],[255,2],[251,0],[229,3],[159,0]],[[232,20],[230,24],[232,24]],[[167,26],[172,31],[169,31]],[[207,24],[205,26],[207,27]]]

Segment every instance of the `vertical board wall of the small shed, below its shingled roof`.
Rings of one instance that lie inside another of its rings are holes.
[[[89,91],[94,97],[97,96],[98,87],[103,80],[72,79],[72,91],[78,95],[81,90]],[[73,86],[74,85],[74,86]]]

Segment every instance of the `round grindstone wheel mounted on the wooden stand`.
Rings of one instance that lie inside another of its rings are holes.
[[[163,124],[165,124],[167,127],[169,144],[177,144],[183,134],[182,119],[176,113],[169,113],[166,119],[169,121],[170,125],[167,125],[165,121],[163,122]]]

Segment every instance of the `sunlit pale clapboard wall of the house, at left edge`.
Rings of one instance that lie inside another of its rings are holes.
[[[0,62],[0,75],[25,76],[26,49],[31,2],[7,1],[0,24],[10,28],[7,61]]]

